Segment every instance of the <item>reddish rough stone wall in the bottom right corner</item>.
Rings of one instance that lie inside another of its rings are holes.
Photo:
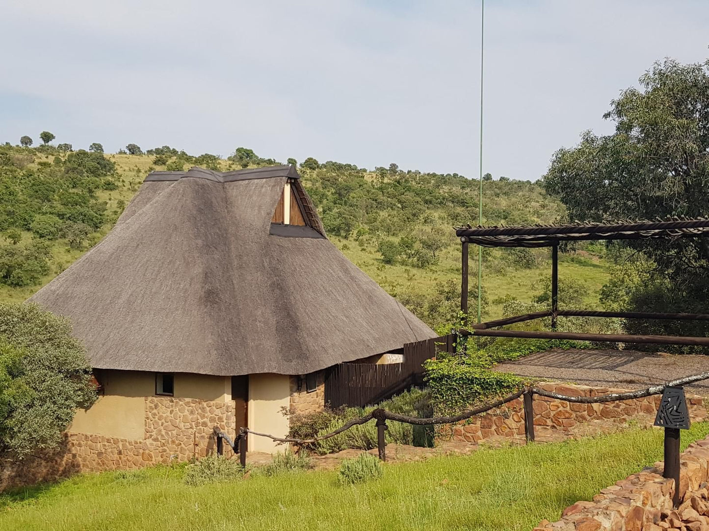
[[[676,509],[674,479],[662,477],[658,462],[601,490],[593,501],[567,507],[558,522],[542,520],[535,531],[709,531],[709,437],[689,445],[680,464]]]

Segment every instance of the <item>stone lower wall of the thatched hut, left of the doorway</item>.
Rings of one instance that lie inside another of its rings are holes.
[[[235,435],[234,409],[233,401],[146,396],[145,439],[65,433],[56,452],[45,452],[23,463],[3,462],[0,491],[78,472],[133,469],[203,457],[214,449],[214,426]],[[225,455],[231,452],[225,445]]]

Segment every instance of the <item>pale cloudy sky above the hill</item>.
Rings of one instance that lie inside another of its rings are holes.
[[[479,173],[480,0],[32,0],[0,16],[0,142],[314,156]],[[487,0],[483,169],[536,180],[657,59],[709,57],[705,0]]]

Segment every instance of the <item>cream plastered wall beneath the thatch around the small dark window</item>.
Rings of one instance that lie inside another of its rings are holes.
[[[155,372],[99,370],[104,386],[90,409],[79,409],[67,431],[124,439],[145,439],[145,397],[155,396]],[[231,378],[174,375],[174,397],[210,401],[231,400]]]

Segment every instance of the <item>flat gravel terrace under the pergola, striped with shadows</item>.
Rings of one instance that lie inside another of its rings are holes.
[[[642,389],[709,371],[709,356],[633,350],[547,350],[514,362],[501,363],[495,366],[495,370],[594,387]],[[687,386],[687,389],[709,396],[709,380]]]

